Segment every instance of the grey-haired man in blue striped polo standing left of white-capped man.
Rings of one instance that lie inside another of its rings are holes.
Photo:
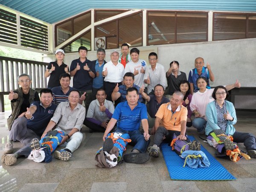
[[[104,60],[105,56],[106,56],[105,50],[102,48],[99,48],[97,50],[97,60],[91,61],[96,71],[96,76],[93,79],[92,100],[96,99],[97,90],[103,88],[104,77],[102,76],[102,70],[105,63],[107,63],[107,61]]]

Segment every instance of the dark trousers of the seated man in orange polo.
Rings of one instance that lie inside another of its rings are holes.
[[[180,131],[169,131],[165,127],[159,127],[156,133],[154,134],[153,144],[159,147],[162,142],[171,143],[173,134],[176,134],[176,136],[178,136],[180,135]],[[166,137],[166,139],[163,140],[164,136]],[[190,140],[188,137],[186,142],[190,143]]]

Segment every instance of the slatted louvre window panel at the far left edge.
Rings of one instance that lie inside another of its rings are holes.
[[[0,9],[0,42],[17,45],[16,14]]]

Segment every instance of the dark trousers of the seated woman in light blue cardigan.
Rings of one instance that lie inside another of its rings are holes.
[[[235,131],[233,134],[233,142],[244,143],[247,151],[250,149],[256,150],[256,139],[253,134]]]

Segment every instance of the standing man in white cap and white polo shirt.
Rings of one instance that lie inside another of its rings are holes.
[[[105,77],[103,86],[107,94],[106,99],[112,101],[111,94],[117,84],[118,86],[122,84],[123,76],[125,74],[125,68],[122,64],[118,62],[118,51],[111,51],[110,58],[111,61],[104,65],[102,76]]]

